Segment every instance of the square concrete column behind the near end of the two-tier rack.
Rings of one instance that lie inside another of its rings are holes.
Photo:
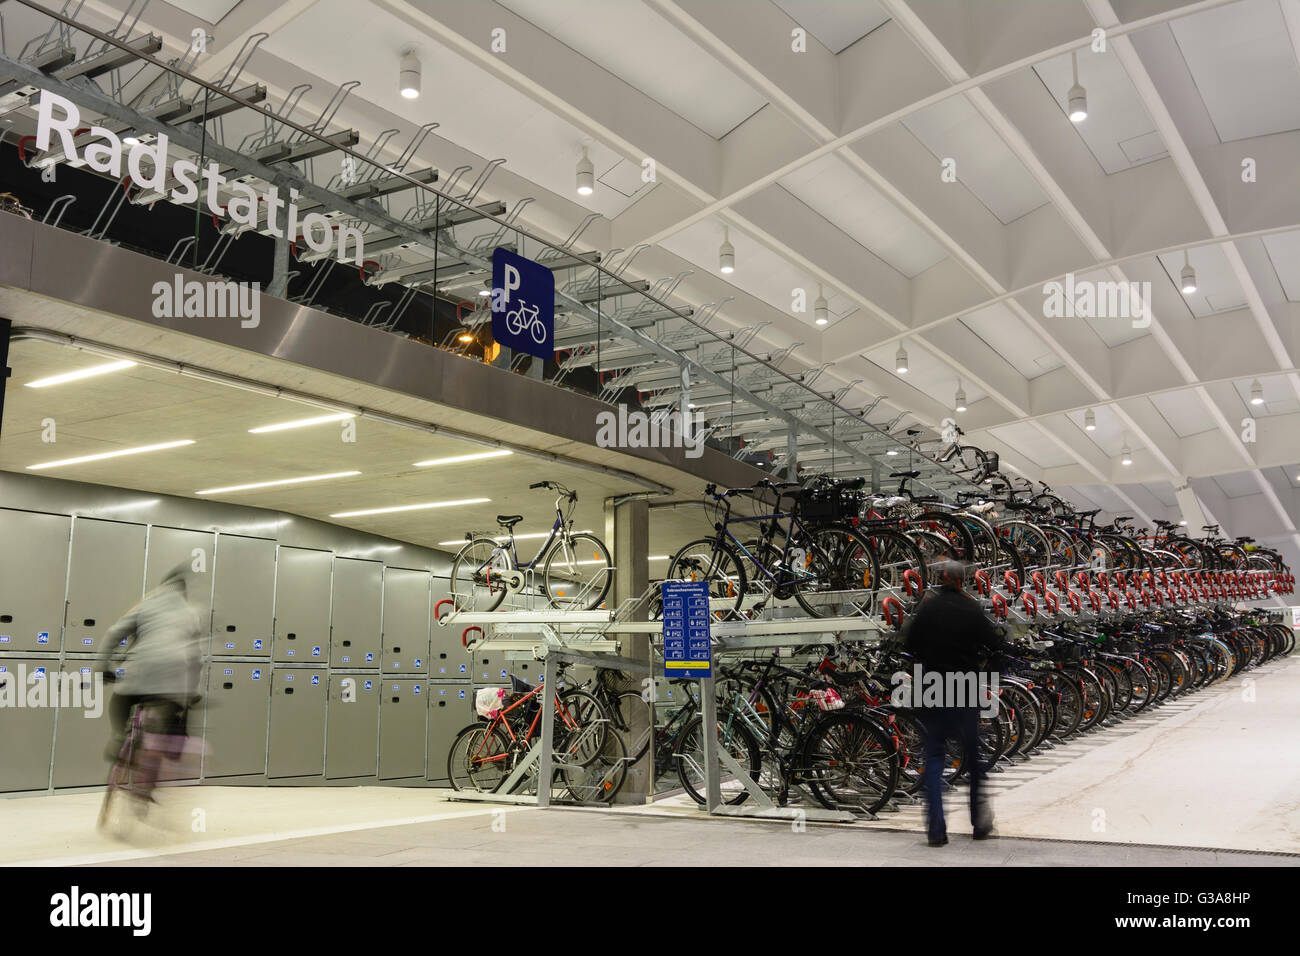
[[[606,498],[606,541],[610,542],[610,555],[614,558],[614,593],[610,606],[621,607],[624,601],[641,597],[650,583],[650,503],[644,497],[636,498]],[[637,607],[630,615],[630,620],[646,620],[649,609]],[[649,635],[623,635],[621,653],[634,661],[650,662]],[[632,675],[632,680],[625,684],[627,689],[641,692],[642,676]],[[638,740],[650,730],[650,709],[634,708],[630,714],[624,714],[629,723],[629,737]],[[620,804],[644,804],[653,790],[654,771],[651,757],[654,748],[646,749],[646,756],[636,763],[628,766],[628,777],[619,791],[616,801]],[[632,756],[632,754],[628,754]]]

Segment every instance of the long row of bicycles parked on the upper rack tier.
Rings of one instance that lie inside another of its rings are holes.
[[[894,472],[892,496],[863,479],[763,479],[749,488],[708,485],[711,535],[671,559],[667,578],[710,585],[714,617],[745,619],[797,602],[819,618],[883,614],[901,623],[941,559],[965,562],[989,610],[1002,619],[1065,620],[1141,609],[1260,600],[1292,593],[1282,555],[1249,537],[1202,538],[1157,520],[1096,523],[1045,485],[991,484],[956,503],[911,493],[918,472]],[[1001,477],[1001,476],[1000,476]]]

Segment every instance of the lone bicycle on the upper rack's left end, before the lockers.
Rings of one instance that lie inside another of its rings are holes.
[[[536,481],[529,489],[556,493],[555,522],[532,561],[521,562],[515,545],[515,525],[523,515],[497,515],[503,540],[468,538],[451,562],[451,600],[460,611],[494,611],[507,594],[528,587],[528,572],[542,566],[542,593],[558,610],[590,611],[604,604],[614,581],[614,562],[595,535],[573,531],[577,492],[558,481]],[[567,503],[567,505],[566,505]],[[590,557],[588,557],[590,555]]]

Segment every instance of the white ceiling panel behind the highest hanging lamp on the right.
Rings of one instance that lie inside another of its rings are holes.
[[[1088,117],[1070,124],[1106,173],[1149,163],[1166,155],[1141,96],[1113,51],[1079,51],[1079,85],[1088,92]],[[1069,105],[1074,70],[1070,55],[1044,60],[1034,68],[1039,79],[1061,104]]]

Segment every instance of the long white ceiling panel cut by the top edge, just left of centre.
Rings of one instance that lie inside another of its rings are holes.
[[[711,137],[766,100],[641,0],[497,0]]]

